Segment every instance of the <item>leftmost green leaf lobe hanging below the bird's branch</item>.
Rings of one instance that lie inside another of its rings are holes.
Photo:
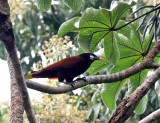
[[[116,100],[126,80],[104,84],[101,97],[109,109],[114,110],[116,108]]]

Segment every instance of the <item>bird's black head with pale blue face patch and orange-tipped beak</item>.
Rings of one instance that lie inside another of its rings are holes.
[[[81,56],[83,56],[86,60],[89,60],[89,61],[104,60],[103,58],[100,58],[93,53],[83,53],[81,54]]]

